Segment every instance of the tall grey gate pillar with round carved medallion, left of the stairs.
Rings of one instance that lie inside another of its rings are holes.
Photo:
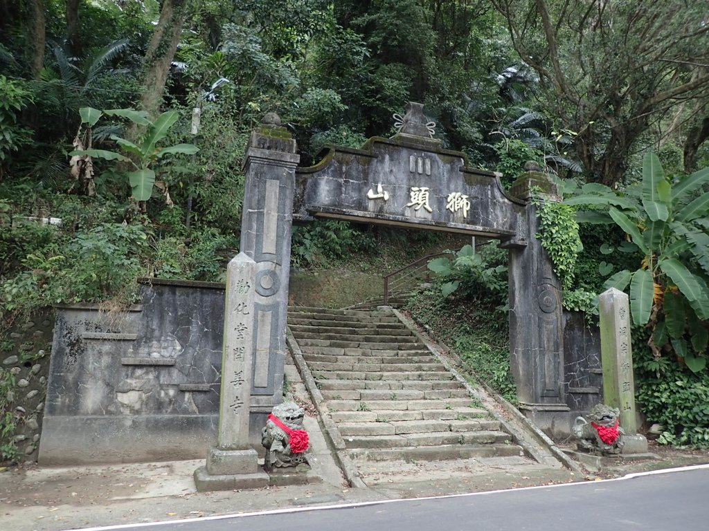
[[[286,313],[296,142],[269,113],[246,150],[242,253],[256,263],[251,387],[252,433],[259,433],[274,405],[283,401]]]

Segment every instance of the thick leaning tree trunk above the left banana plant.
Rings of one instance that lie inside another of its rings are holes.
[[[188,4],[189,0],[164,0],[160,10],[160,20],[145,52],[143,96],[140,98],[140,107],[147,110],[153,119],[160,112],[162,93],[182,35]]]

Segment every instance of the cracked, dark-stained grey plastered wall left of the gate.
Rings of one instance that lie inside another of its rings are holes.
[[[57,308],[40,463],[204,457],[218,425],[223,306],[221,284],[152,280],[129,312]]]

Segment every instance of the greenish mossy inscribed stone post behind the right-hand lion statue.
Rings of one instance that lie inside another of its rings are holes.
[[[620,410],[619,423],[625,430],[623,453],[647,452],[647,440],[637,435],[627,295],[611,287],[598,297],[598,312],[601,324],[603,401]]]

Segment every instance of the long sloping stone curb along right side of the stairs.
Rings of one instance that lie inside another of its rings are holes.
[[[494,408],[489,407],[490,412],[496,417],[496,420],[500,421],[503,426],[508,429],[518,444],[524,448],[525,452],[527,452],[532,459],[549,466],[554,466],[554,464],[557,464],[558,466],[560,463],[573,472],[583,474],[583,470],[578,463],[565,455],[562,450],[559,450],[559,447],[554,444],[554,441],[552,441],[546,433],[542,432],[542,430],[537,428],[537,426],[534,426],[534,424],[532,424],[527,417],[520,413],[515,406],[510,404],[500,394],[493,391],[493,389],[491,389],[485,382],[480,379],[478,380],[481,387],[485,389],[487,396],[486,394],[481,393],[479,389],[474,389],[474,387],[471,387],[471,385],[467,382],[467,379],[465,379],[458,372],[453,363],[450,360],[447,360],[442,355],[443,353],[438,350],[438,348],[443,350],[445,355],[449,356],[456,365],[463,367],[464,363],[451,348],[440,341],[433,341],[427,334],[422,333],[415,326],[414,322],[407,316],[403,315],[398,309],[392,308],[392,311],[398,319],[405,324],[406,327],[411,330],[411,332],[414,333],[421,342],[425,344],[431,353],[435,355],[435,357],[440,360],[443,365],[445,365],[447,370],[450,370],[456,379],[465,385],[466,389],[471,394],[478,396],[483,401],[487,401],[486,399],[494,401],[496,404],[501,406],[506,413],[508,413],[510,418],[504,418]]]

